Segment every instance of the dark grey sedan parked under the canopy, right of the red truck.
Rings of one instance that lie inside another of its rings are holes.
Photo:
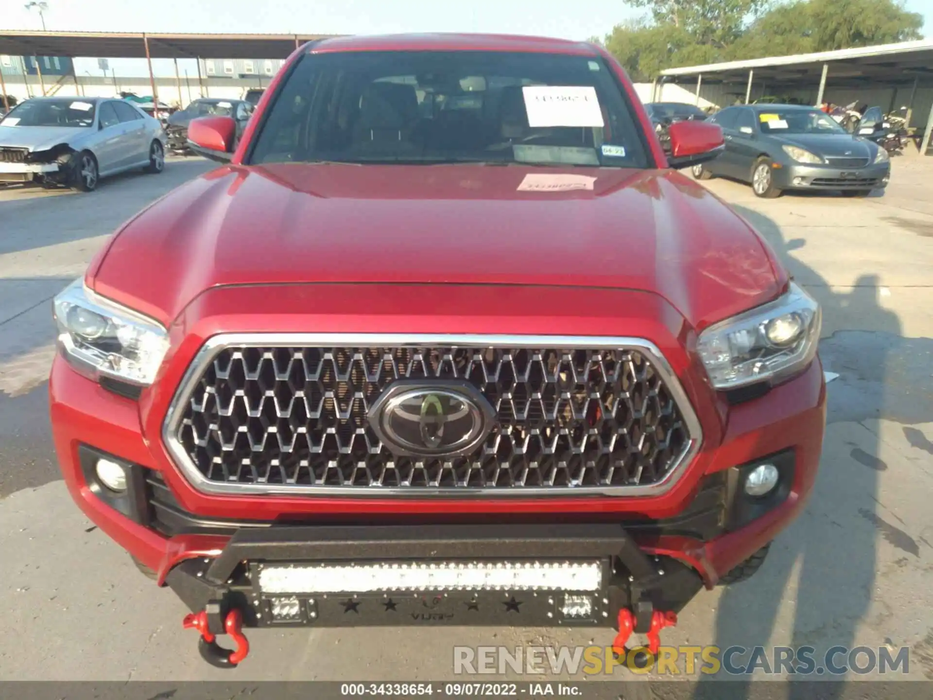
[[[853,197],[887,186],[887,152],[846,132],[819,109],[801,105],[736,105],[710,121],[726,147],[714,161],[693,167],[704,180],[725,175],[748,182],[759,197],[785,189],[838,189]]]

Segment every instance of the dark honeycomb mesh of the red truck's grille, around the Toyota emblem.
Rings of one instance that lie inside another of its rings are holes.
[[[367,413],[397,379],[466,380],[496,423],[472,454],[393,455]],[[210,482],[410,492],[658,483],[689,428],[638,350],[255,347],[220,350],[174,436]]]

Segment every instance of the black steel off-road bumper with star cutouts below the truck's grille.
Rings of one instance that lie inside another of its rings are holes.
[[[427,564],[482,562],[540,565],[598,562],[598,591],[397,590],[372,593],[267,593],[262,567],[280,565]],[[241,529],[215,559],[174,567],[166,584],[192,611],[214,609],[212,630],[223,631],[230,609],[244,626],[521,625],[615,626],[633,609],[635,631],[647,631],[652,609],[679,611],[702,588],[692,568],[648,556],[620,525],[388,525],[273,526]],[[566,613],[566,596],[587,596],[585,615]],[[273,614],[291,602],[292,614]],[[212,616],[209,614],[208,618]]]

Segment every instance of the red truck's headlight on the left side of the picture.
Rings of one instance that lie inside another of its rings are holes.
[[[99,297],[83,279],[65,287],[53,308],[59,343],[78,369],[152,384],[169,346],[159,323]]]

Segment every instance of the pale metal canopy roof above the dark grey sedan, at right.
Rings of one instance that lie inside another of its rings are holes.
[[[933,39],[668,68],[661,71],[661,77],[670,82],[688,82],[685,78],[690,78],[692,82],[703,75],[703,82],[744,83],[748,71],[754,70],[756,80],[772,85],[819,82],[824,63],[829,63],[834,86],[857,87],[879,80],[891,85],[910,84],[917,77],[933,82]]]

